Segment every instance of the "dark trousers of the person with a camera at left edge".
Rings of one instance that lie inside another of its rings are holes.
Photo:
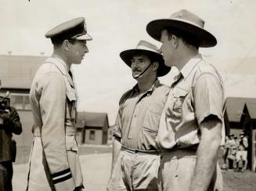
[[[0,190],[12,191],[13,163],[12,161],[0,162]]]

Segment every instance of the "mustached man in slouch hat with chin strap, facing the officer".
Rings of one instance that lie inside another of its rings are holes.
[[[157,46],[147,41],[139,41],[135,49],[120,56],[138,83],[120,99],[107,189],[158,190],[160,156],[155,139],[169,88],[157,77],[168,74],[171,68],[164,66]]]

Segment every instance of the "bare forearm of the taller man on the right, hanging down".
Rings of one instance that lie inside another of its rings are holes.
[[[217,122],[210,129],[203,130],[197,150],[197,164],[190,184],[190,191],[208,189],[216,170],[218,149],[221,142],[220,131],[220,122]]]

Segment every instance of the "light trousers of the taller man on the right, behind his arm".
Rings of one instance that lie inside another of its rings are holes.
[[[159,189],[161,191],[189,191],[196,167],[195,151],[175,150],[161,153],[159,168]],[[207,191],[222,191],[222,172],[217,164],[215,175]]]

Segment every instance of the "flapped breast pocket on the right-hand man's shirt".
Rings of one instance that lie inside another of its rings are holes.
[[[174,104],[173,104],[173,113],[176,117],[180,117],[182,114],[182,106],[184,104],[184,101],[186,99],[186,96],[188,95],[188,91],[184,89],[178,89],[177,92],[173,93],[174,98]]]

